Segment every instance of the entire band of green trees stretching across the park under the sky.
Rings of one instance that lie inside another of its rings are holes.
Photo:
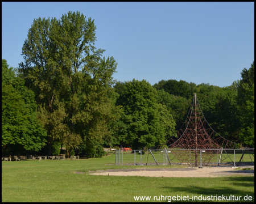
[[[2,155],[58,155],[65,147],[67,156],[100,157],[103,147],[156,146],[181,128],[193,93],[218,134],[254,148],[254,62],[228,87],[116,82],[117,62],[95,41],[94,20],[68,12],[34,20],[19,67],[2,59]]]

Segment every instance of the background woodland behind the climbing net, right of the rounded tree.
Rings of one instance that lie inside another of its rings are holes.
[[[217,133],[254,147],[254,62],[249,70],[242,70],[241,76],[241,80],[224,88],[176,80],[161,80],[154,87],[158,89],[158,103],[166,105],[174,116],[176,130],[187,117],[192,93],[196,92],[205,118]]]

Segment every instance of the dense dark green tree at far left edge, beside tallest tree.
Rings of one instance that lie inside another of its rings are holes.
[[[46,131],[36,115],[34,93],[2,59],[2,154],[39,151],[46,145]]]

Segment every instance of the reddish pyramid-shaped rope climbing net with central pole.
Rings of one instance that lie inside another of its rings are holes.
[[[177,137],[172,137],[166,144],[157,146],[157,149],[167,148],[180,163],[197,166],[199,163],[209,165],[218,152],[232,149],[236,143],[221,137],[214,131],[201,111],[199,101],[194,94],[191,108],[184,122],[185,129],[177,132]],[[154,147],[153,147],[154,148]],[[184,151],[180,151],[184,150]],[[200,157],[204,151],[204,157]],[[202,161],[203,160],[203,161]]]

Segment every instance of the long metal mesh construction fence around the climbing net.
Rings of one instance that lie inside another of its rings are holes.
[[[254,166],[254,148],[115,150],[116,165]]]

